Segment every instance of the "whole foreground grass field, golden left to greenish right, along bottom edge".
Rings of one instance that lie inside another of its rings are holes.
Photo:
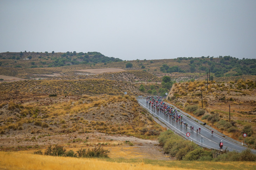
[[[254,170],[254,162],[196,162],[154,160],[111,160],[33,155],[17,152],[0,152],[0,169],[91,169],[91,170],[192,170],[192,169],[247,169]]]

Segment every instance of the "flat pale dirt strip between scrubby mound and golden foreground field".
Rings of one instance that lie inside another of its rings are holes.
[[[171,158],[170,156],[163,154],[158,141],[145,140],[133,136],[108,135],[95,131],[86,134],[55,134],[39,138],[39,134],[35,135],[20,132],[21,131],[16,131],[16,134],[11,136],[1,135],[0,151],[7,149],[33,153],[35,150],[44,151],[47,146],[55,144],[65,146],[67,150],[72,149],[77,151],[81,147],[89,148],[99,146],[101,143],[108,143],[105,146],[101,146],[110,151],[109,157],[111,158],[147,158],[154,160],[169,160]],[[31,139],[33,136],[35,136],[35,140],[26,140]],[[72,142],[76,139],[78,139],[79,142]],[[125,141],[133,143],[133,146],[130,146],[129,143]],[[31,149],[24,150],[22,148]]]

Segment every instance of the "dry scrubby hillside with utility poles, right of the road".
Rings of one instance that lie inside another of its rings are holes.
[[[171,103],[210,124],[231,138],[242,140],[248,133],[247,142],[256,147],[256,81],[229,83],[206,81],[176,83],[168,99]],[[203,108],[201,103],[201,90]],[[229,121],[229,105],[231,121]],[[197,110],[197,111],[196,111]]]

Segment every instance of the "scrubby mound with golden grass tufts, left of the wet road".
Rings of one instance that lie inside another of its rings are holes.
[[[128,95],[58,97],[53,100],[47,96],[38,96],[24,100],[21,104],[15,103],[19,99],[13,97],[13,101],[2,103],[1,146],[44,147],[45,143],[70,145],[76,142],[92,146],[96,132],[156,139],[164,130],[140,108],[134,97]],[[90,136],[90,139],[85,139],[86,136]]]

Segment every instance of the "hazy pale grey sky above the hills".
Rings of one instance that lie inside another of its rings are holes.
[[[256,58],[255,0],[0,0],[0,52]]]

